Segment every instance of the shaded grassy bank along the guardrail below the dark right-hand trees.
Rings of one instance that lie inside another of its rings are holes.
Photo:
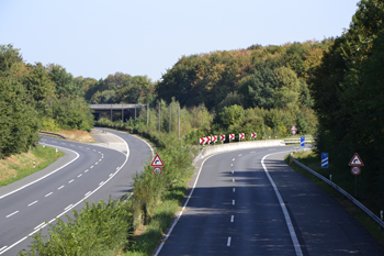
[[[298,159],[300,163],[303,165],[309,167],[310,169],[315,170],[316,172],[323,175],[324,177],[329,179],[329,175],[332,175],[332,182],[335,182],[337,186],[346,190],[350,194],[354,194],[354,186],[351,183],[351,178],[346,178],[346,176],[352,176],[350,172],[343,172],[340,174],[340,171],[337,171],[332,168],[331,164],[329,164],[329,168],[321,168],[320,167],[320,156],[312,151],[306,152],[296,152],[293,153],[293,156]],[[293,163],[291,157],[287,155],[285,157],[285,162],[293,167],[296,171],[301,172],[303,176],[315,182],[318,187],[324,189],[328,194],[330,194],[335,200],[337,200],[347,212],[349,212],[351,215],[353,215],[362,225],[364,225],[369,232],[381,243],[384,245],[384,231],[381,230],[381,227],[377,225],[376,222],[374,222],[371,218],[369,218],[360,208],[355,207],[354,203],[352,203],[348,198],[342,196],[340,192],[338,192],[332,187],[328,186],[323,180],[318,179],[316,176],[309,174],[305,169],[301,168],[296,164]],[[352,177],[353,178],[353,177]],[[358,177],[359,179],[359,177]],[[358,186],[358,194],[361,194],[361,197],[358,197],[358,200],[363,203],[366,208],[369,208],[372,212],[377,213],[380,212],[380,209],[368,205],[365,197],[369,197],[369,194],[364,191],[364,186]]]

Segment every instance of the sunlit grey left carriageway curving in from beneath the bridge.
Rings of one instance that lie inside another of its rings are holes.
[[[116,132],[111,132],[116,133]],[[151,149],[142,140],[124,134],[128,147],[115,149],[43,137],[46,145],[67,153],[47,169],[0,189],[0,255],[16,255],[27,248],[27,236],[44,222],[80,210],[89,202],[118,199],[132,189],[132,176],[143,170]]]

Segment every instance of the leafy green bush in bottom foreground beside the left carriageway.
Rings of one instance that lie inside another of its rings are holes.
[[[116,255],[128,243],[132,213],[128,203],[118,200],[100,201],[74,210],[75,219],[57,219],[48,224],[48,235],[34,234],[30,251],[19,255]]]

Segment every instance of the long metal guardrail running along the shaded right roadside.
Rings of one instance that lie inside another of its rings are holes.
[[[313,169],[306,167],[305,165],[303,165],[302,163],[300,163],[298,160],[296,160],[291,153],[291,159],[298,166],[301,166],[303,169],[309,171],[310,174],[313,174],[314,176],[316,176],[317,178],[321,179],[324,182],[328,183],[329,186],[331,186],[332,188],[335,188],[336,190],[338,190],[341,194],[343,194],[345,197],[347,197],[349,200],[351,200],[357,207],[359,207],[362,211],[364,211],[370,218],[372,218],[375,222],[377,222],[379,225],[382,226],[382,229],[384,229],[384,222],[377,216],[375,215],[373,212],[371,212],[366,207],[364,207],[361,202],[359,202],[358,200],[355,200],[351,194],[349,194],[348,192],[346,192],[342,188],[340,188],[339,186],[337,186],[336,183],[334,183],[332,181],[330,181],[329,179],[325,178],[324,176],[317,174],[316,171],[314,171]]]

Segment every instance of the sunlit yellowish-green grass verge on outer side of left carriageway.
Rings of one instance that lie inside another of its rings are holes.
[[[0,187],[20,180],[64,156],[63,152],[56,154],[53,147],[37,145],[27,153],[13,155],[0,160]],[[35,163],[35,167],[33,167]]]

